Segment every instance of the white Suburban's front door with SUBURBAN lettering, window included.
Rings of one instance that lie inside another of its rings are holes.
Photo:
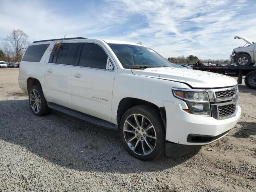
[[[111,122],[112,90],[116,70],[103,45],[84,43],[71,76],[75,110]]]

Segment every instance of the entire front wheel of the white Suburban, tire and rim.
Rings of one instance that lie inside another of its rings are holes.
[[[124,147],[135,158],[149,161],[164,154],[165,129],[156,108],[140,105],[128,109],[119,131]]]

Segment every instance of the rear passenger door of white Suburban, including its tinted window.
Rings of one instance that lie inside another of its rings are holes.
[[[76,65],[79,43],[63,43],[54,47],[45,68],[45,96],[53,102],[68,108],[71,103],[71,74]]]

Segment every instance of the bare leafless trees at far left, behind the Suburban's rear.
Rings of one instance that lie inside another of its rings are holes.
[[[0,44],[0,61],[20,62],[28,46],[28,35],[20,29],[12,32]]]

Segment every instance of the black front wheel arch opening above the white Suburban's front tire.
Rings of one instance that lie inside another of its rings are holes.
[[[138,105],[150,105],[159,110],[159,113],[162,118],[162,122],[164,124],[164,128],[166,128],[166,111],[164,107],[158,107],[156,104],[152,102],[148,102],[146,100],[138,99],[138,98],[132,98],[132,97],[126,97],[122,98],[118,104],[118,110],[116,114],[116,120],[118,125],[120,124],[121,118],[123,114],[130,108]]]

